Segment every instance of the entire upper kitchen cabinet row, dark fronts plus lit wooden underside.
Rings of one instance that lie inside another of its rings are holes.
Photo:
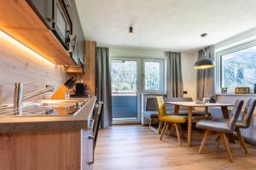
[[[84,35],[74,0],[9,0],[0,6],[0,28],[55,65],[79,65]]]

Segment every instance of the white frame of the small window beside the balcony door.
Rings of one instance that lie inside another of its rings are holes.
[[[145,62],[160,63],[160,90],[145,89]],[[143,58],[143,94],[165,94],[166,93],[166,59],[148,59]]]

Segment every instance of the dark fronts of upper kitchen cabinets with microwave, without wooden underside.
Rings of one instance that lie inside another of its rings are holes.
[[[84,63],[84,34],[74,0],[28,0],[67,49],[77,65]]]

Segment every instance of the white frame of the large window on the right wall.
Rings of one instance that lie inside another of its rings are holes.
[[[245,42],[241,43],[239,45],[236,45],[231,48],[226,48],[223,50],[220,50],[216,53],[216,82],[215,82],[215,87],[216,87],[216,92],[217,94],[221,94],[221,88],[223,85],[223,63],[222,63],[222,56],[225,54],[231,54],[235,53],[237,51],[241,51],[246,48],[252,48],[256,46],[256,40],[252,42]],[[228,89],[227,94],[235,94],[235,88],[233,89]]]

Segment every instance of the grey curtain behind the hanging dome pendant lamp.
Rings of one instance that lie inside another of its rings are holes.
[[[214,46],[205,48],[206,57],[214,60]],[[198,52],[198,59],[205,55],[201,49]],[[215,94],[214,68],[197,70],[197,99],[210,98]]]

